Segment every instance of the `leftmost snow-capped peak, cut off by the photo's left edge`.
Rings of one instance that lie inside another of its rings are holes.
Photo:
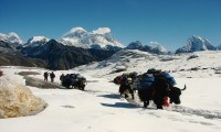
[[[14,32],[11,32],[8,34],[0,33],[0,41],[10,42],[10,43],[14,44],[15,47],[19,47],[23,44],[23,41]]]

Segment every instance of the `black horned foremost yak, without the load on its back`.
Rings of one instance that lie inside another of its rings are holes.
[[[154,100],[157,109],[162,109],[164,99],[166,97],[170,98],[170,103],[179,105],[181,91],[183,89],[173,87],[169,85],[165,79],[156,78],[150,88],[140,88],[138,89],[138,97],[144,102],[144,108],[147,108],[150,100]]]

